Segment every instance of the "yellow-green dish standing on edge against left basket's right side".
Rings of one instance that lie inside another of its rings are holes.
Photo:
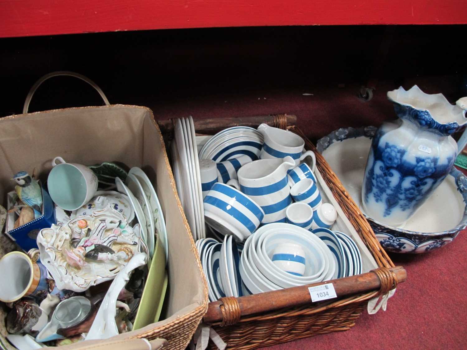
[[[144,286],[140,305],[134,319],[133,329],[140,329],[159,320],[167,290],[168,277],[165,271],[164,247],[156,241],[156,251],[149,267],[148,280]]]

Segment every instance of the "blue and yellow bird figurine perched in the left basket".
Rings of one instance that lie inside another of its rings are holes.
[[[15,191],[21,201],[34,210],[34,218],[42,216],[42,191],[37,180],[34,180],[26,171],[13,175],[12,180],[18,185]]]

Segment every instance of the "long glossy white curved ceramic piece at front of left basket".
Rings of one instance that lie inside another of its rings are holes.
[[[100,304],[99,311],[97,312],[94,322],[92,322],[92,326],[91,329],[89,329],[86,340],[107,339],[119,334],[117,324],[115,323],[117,297],[130,279],[130,273],[135,268],[142,266],[145,263],[146,254],[136,254],[117,274],[115,279],[112,281],[104,300],[102,300]],[[119,306],[122,305],[119,304]]]

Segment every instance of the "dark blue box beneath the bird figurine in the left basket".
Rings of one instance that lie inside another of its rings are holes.
[[[13,239],[24,251],[28,252],[29,249],[37,248],[36,238],[39,231],[43,228],[52,226],[57,223],[55,217],[54,203],[49,194],[43,187],[42,189],[42,215],[27,224],[15,228],[14,230],[5,232],[6,235]],[[9,196],[9,194],[8,194]],[[8,208],[9,209],[9,208]],[[8,217],[8,220],[10,217]],[[13,226],[13,223],[7,223],[8,227]]]

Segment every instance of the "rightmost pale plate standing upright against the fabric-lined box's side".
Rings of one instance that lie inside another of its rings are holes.
[[[162,212],[161,203],[159,203],[156,190],[154,189],[152,183],[149,181],[149,177],[144,173],[144,171],[142,171],[142,169],[137,167],[131,168],[128,174],[133,174],[136,176],[138,181],[141,183],[146,198],[148,198],[152,216],[154,218],[156,235],[158,235],[158,239],[161,240],[161,244],[164,247],[165,263],[167,264],[167,260],[169,259],[169,240],[167,238],[167,229],[165,228],[164,214]]]

